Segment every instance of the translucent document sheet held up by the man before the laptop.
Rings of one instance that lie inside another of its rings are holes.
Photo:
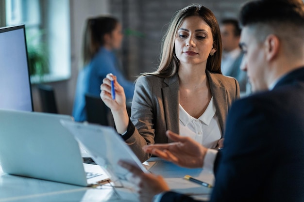
[[[93,160],[105,168],[114,184],[129,184],[130,172],[118,166],[119,160],[132,163],[143,172],[148,172],[131,148],[122,140],[113,127],[61,120],[75,136]]]

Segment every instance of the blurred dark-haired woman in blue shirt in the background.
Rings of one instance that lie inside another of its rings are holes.
[[[85,94],[100,96],[100,85],[107,74],[116,75],[124,88],[127,100],[134,94],[133,82],[124,78],[118,69],[115,50],[121,46],[122,26],[112,16],[98,16],[86,21],[83,40],[83,69],[79,72],[73,107],[75,121],[85,121]]]

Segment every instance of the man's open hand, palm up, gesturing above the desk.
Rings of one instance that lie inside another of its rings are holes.
[[[166,135],[175,142],[168,144],[152,144],[143,147],[143,150],[182,167],[203,167],[203,160],[207,152],[205,147],[189,137],[179,136],[172,131],[167,131]]]

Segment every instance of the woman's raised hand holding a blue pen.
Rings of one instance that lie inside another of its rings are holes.
[[[112,99],[111,80],[114,81],[115,99]],[[117,132],[122,134],[127,130],[129,116],[126,107],[126,96],[116,76],[107,74],[102,80],[100,97],[104,104],[111,109]]]

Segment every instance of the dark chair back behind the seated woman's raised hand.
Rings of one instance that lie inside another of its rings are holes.
[[[85,94],[86,121],[93,124],[110,125],[109,108],[100,97]]]

